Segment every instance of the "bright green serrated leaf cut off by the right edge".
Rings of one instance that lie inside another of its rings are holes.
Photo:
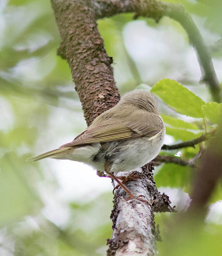
[[[202,106],[202,111],[204,115],[213,123],[221,123],[222,115],[222,103],[218,104],[216,102],[205,103]]]

